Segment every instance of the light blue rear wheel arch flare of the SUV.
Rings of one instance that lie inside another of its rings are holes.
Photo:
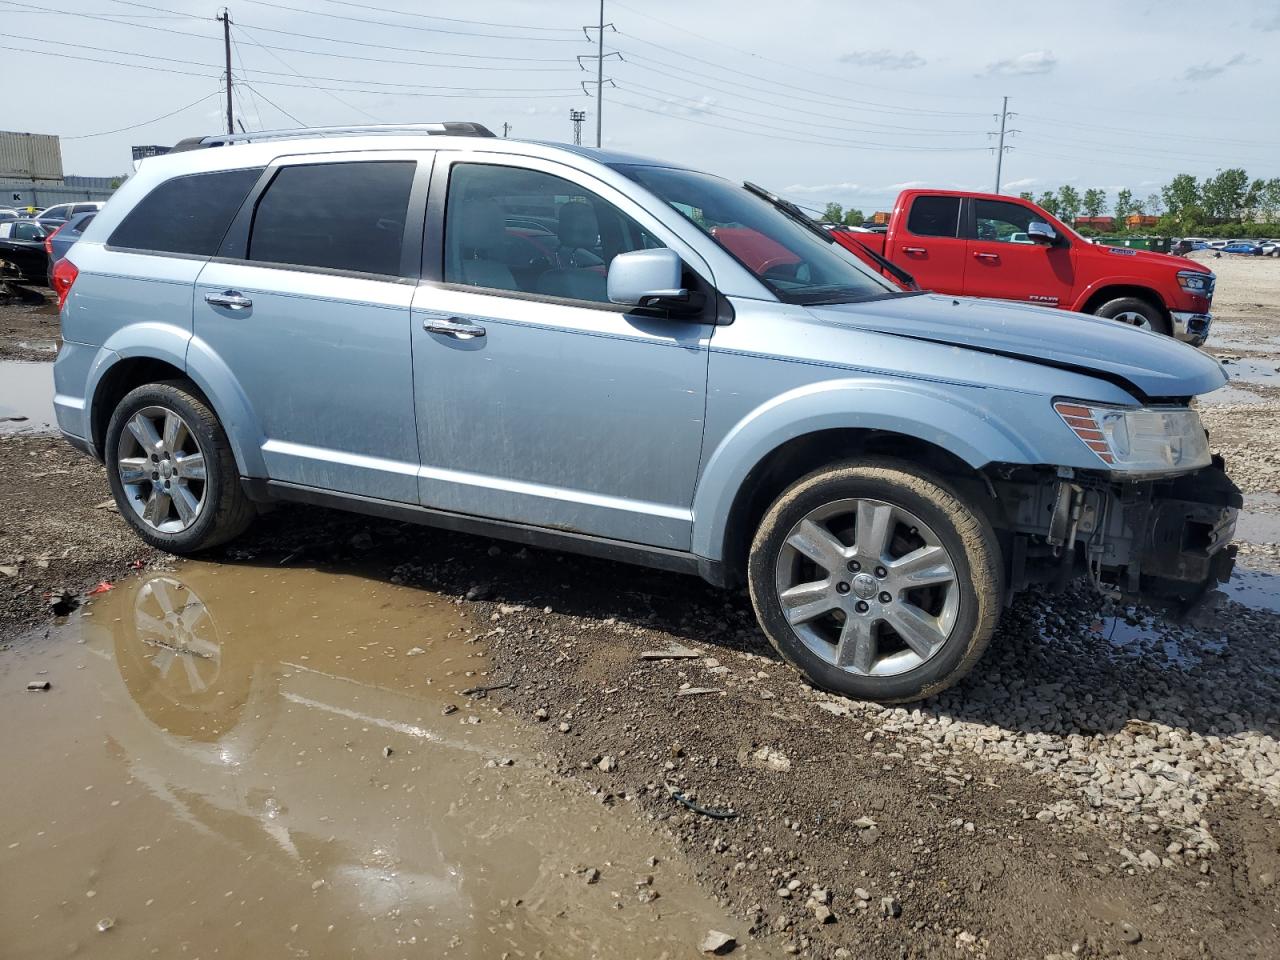
[[[141,323],[113,333],[90,366],[86,397],[92,397],[96,406],[102,378],[116,364],[133,358],[160,360],[184,371],[209,399],[227,431],[241,476],[266,476],[262,429],[248,397],[221,357],[182,328]]]

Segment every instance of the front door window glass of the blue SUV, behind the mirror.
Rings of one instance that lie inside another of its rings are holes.
[[[562,177],[492,164],[454,164],[449,173],[445,283],[608,303],[613,257],[660,246]]]

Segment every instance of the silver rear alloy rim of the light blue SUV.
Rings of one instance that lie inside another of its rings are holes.
[[[152,530],[178,534],[205,508],[205,453],[187,421],[165,407],[143,407],[124,425],[116,471],[134,515]]]

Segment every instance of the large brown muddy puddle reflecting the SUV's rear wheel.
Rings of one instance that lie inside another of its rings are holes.
[[[462,694],[500,682],[476,639],[490,626],[360,576],[192,563],[17,644],[0,658],[0,952],[692,957],[708,929],[741,942],[669,844],[557,780],[498,695]]]

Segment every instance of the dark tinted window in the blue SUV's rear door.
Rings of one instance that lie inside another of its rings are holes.
[[[399,276],[412,160],[284,166],[259,201],[248,259]]]

